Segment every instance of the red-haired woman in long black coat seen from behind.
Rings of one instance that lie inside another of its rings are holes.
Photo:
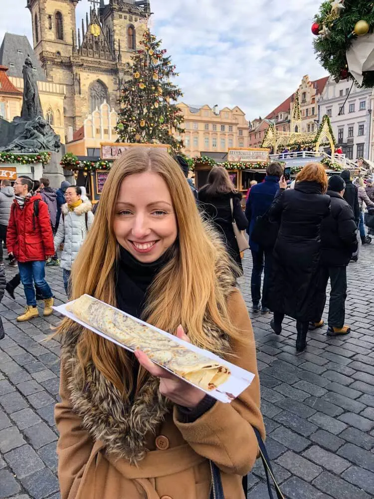
[[[269,209],[270,220],[280,223],[269,289],[270,326],[280,334],[285,315],[296,319],[296,349],[303,351],[309,322],[321,317],[325,306],[320,227],[330,213],[327,175],[321,164],[309,163],[297,176],[295,189],[285,190],[284,177],[279,185]]]

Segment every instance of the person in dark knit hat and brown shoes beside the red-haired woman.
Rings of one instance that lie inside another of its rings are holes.
[[[347,297],[347,265],[357,251],[357,225],[350,205],[343,199],[345,180],[339,175],[329,179],[327,194],[331,198],[330,215],[321,224],[321,265],[327,287],[330,279],[329,336],[348,334],[350,326],[344,324]],[[323,320],[310,324],[310,329],[323,326]]]

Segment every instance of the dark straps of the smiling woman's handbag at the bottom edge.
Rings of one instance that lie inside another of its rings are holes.
[[[256,435],[258,447],[260,449],[260,457],[261,457],[261,461],[262,461],[262,464],[263,464],[264,470],[265,470],[269,498],[274,499],[273,492],[271,490],[271,484],[273,483],[274,487],[275,487],[275,492],[277,494],[277,498],[278,499],[285,499],[280,488],[279,488],[279,485],[274,477],[274,473],[273,473],[273,469],[271,467],[270,459],[269,459],[268,453],[266,451],[265,444],[261,438],[260,432],[257,430],[257,428],[254,428],[254,427],[253,427],[253,431]],[[209,466],[210,466],[210,475],[211,475],[209,499],[224,499],[222,480],[221,480],[219,468],[212,461],[209,461]],[[270,478],[271,478],[271,480],[270,480]],[[248,489],[247,485],[248,485],[247,477],[244,477],[243,478],[243,487],[244,487],[245,495],[247,495],[247,489]]]

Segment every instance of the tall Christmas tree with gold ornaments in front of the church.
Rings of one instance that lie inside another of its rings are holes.
[[[146,30],[141,48],[132,57],[132,78],[121,90],[121,111],[116,126],[121,142],[170,144],[179,151],[183,115],[176,104],[182,94],[172,82],[178,76],[161,40]]]

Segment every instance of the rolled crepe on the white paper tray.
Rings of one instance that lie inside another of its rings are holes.
[[[87,294],[68,303],[66,309],[131,350],[142,350],[157,364],[205,391],[216,389],[231,375],[227,367]]]

